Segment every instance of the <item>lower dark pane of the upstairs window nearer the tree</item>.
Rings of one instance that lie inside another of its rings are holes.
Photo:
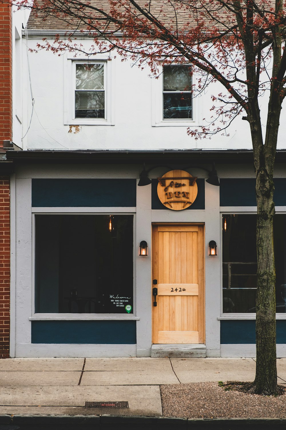
[[[192,95],[190,93],[163,93],[163,118],[192,119]]]

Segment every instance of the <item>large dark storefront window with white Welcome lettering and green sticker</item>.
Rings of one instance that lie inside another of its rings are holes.
[[[36,313],[133,313],[133,216],[35,216]]]

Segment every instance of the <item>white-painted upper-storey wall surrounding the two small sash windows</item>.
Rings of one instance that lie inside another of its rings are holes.
[[[37,43],[42,43],[44,37],[47,37],[48,42],[53,42],[53,38],[49,36],[51,31],[35,33],[36,31],[27,31],[28,40],[23,35],[23,135],[27,132],[32,115],[30,80],[35,100],[29,132],[23,139],[23,149],[120,151],[252,148],[249,125],[242,120],[242,116],[233,121],[224,135],[218,133],[211,138],[207,136],[198,140],[187,135],[188,126],[199,130],[201,126],[211,122],[211,95],[221,91],[219,83],[210,85],[203,94],[193,98],[193,120],[162,121],[162,75],[158,79],[151,77],[148,67],[141,70],[132,61],[122,62],[116,53],[110,57],[106,54],[92,55],[88,59],[84,54],[75,55],[73,52],[53,54],[37,48]],[[77,42],[82,43],[88,51],[89,40],[79,37]],[[27,54],[26,43],[28,49],[37,52]],[[69,111],[72,109],[74,61],[106,61],[107,110],[110,112],[110,120],[107,122],[71,120]],[[263,124],[267,107],[266,95],[260,100]],[[69,133],[69,125],[79,125],[79,132],[74,133],[73,127],[72,133]],[[278,148],[285,147],[284,134],[285,124],[281,121]]]

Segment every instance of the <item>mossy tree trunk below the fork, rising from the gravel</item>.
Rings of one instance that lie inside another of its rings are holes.
[[[273,192],[273,174],[262,167],[256,172],[256,377],[250,391],[268,395],[277,393]]]

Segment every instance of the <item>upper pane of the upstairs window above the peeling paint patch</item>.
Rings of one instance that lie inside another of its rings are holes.
[[[76,89],[104,89],[104,64],[76,64]]]

